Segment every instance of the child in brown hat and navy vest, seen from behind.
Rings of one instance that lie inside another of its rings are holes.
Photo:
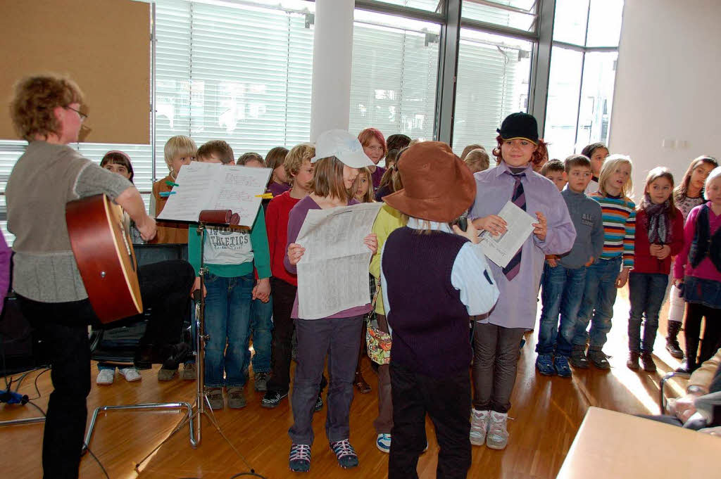
[[[471,465],[469,315],[487,313],[498,297],[477,230],[470,223],[467,231],[448,225],[471,206],[475,183],[468,166],[440,142],[411,146],[398,169],[404,189],[384,200],[409,218],[381,254],[393,335],[388,477],[417,478],[428,413],[441,447],[437,477],[465,478]]]

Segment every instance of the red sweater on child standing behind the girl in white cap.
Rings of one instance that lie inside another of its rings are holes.
[[[299,201],[291,197],[290,191],[283,192],[270,200],[265,210],[265,228],[270,248],[270,272],[274,277],[283,279],[294,286],[298,286],[298,276],[286,270],[286,267],[283,266],[283,258],[286,256],[286,241],[288,240],[288,214]]]

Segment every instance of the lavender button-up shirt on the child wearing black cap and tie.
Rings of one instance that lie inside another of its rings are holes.
[[[521,271],[508,281],[503,268],[488,261],[493,279],[500,296],[495,308],[482,323],[491,323],[504,328],[531,329],[536,323],[537,292],[545,255],[564,254],[573,247],[576,230],[573,227],[566,202],[557,187],[543,176],[535,173],[530,166],[521,179],[526,194],[526,212],[535,216],[536,211],[546,216],[548,230],[545,241],[531,233],[521,246]],[[496,168],[475,173],[476,200],[471,207],[469,218],[496,215],[503,205],[510,201],[516,180],[510,176],[508,166],[502,161]]]

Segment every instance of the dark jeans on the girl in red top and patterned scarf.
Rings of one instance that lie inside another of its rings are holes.
[[[658,330],[658,313],[663,305],[667,286],[668,274],[629,274],[629,351],[649,354],[653,352],[653,342]],[[646,321],[641,340],[641,320],[644,316]]]

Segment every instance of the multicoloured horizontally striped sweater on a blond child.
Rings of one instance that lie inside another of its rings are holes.
[[[601,259],[623,256],[624,268],[633,268],[636,236],[636,205],[624,197],[603,197],[594,193],[590,198],[601,205],[603,212],[603,253]]]

